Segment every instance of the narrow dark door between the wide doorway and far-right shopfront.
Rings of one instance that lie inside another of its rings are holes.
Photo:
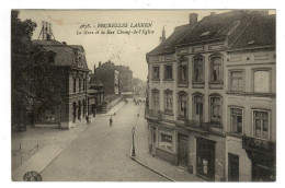
[[[239,181],[239,155],[228,154],[228,180]]]

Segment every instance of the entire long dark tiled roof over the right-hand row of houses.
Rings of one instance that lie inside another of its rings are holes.
[[[275,15],[265,11],[233,10],[203,17],[194,26],[175,27],[170,37],[149,55],[172,54],[176,46],[225,42],[229,48],[275,45]]]

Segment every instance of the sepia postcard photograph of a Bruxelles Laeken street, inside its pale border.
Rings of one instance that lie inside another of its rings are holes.
[[[12,181],[276,181],[275,9],[10,13]]]

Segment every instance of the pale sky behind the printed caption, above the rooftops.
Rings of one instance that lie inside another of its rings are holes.
[[[31,19],[37,23],[33,39],[37,39],[42,21],[52,23],[53,34],[58,42],[68,45],[82,45],[86,49],[88,67],[93,71],[99,61],[111,60],[115,64],[128,66],[134,78],[147,80],[146,54],[159,45],[164,26],[166,36],[170,36],[175,26],[189,24],[189,14],[197,13],[198,20],[210,12],[223,13],[229,10],[21,10],[20,19]],[[117,23],[127,27],[98,27],[98,24]],[[151,27],[130,27],[130,24],[150,23]],[[84,28],[82,25],[90,25]],[[107,30],[115,34],[101,34]],[[152,34],[118,34],[122,30],[150,30]],[[93,34],[84,34],[84,31]],[[100,34],[95,34],[99,31]],[[79,34],[81,32],[81,34]]]

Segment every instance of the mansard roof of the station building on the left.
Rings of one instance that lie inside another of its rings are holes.
[[[82,59],[81,59],[82,68],[88,69],[84,48],[80,45],[65,45],[57,40],[41,40],[41,39],[33,40],[33,43],[35,45],[43,46],[43,48],[45,48],[48,51],[54,51],[56,54],[55,56],[56,66],[77,67],[77,64],[75,63],[75,56],[76,56],[75,49],[77,49],[82,55]]]

